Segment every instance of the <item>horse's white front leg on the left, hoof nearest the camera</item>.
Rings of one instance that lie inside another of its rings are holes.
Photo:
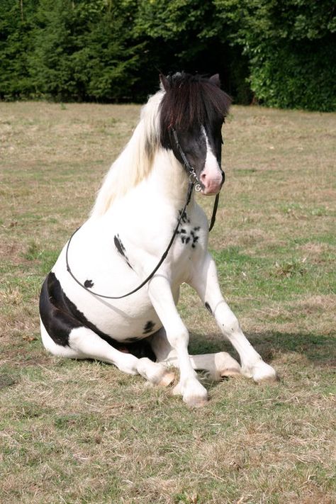
[[[174,303],[172,289],[165,276],[157,275],[150,281],[148,293],[152,305],[164,326],[169,344],[175,349],[180,379],[174,393],[181,393],[189,406],[202,406],[208,401],[206,388],[199,383],[188,354],[189,332]]]

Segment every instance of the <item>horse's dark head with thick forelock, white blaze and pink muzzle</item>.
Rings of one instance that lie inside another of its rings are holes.
[[[162,146],[171,149],[181,164],[185,155],[201,182],[202,194],[218,194],[224,182],[221,129],[230,97],[220,89],[218,75],[206,79],[182,72],[161,76],[161,83],[165,91],[160,105]]]

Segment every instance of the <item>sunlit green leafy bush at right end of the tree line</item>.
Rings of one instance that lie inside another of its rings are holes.
[[[331,0],[217,0],[230,40],[250,61],[256,99],[268,106],[336,109],[335,4]]]

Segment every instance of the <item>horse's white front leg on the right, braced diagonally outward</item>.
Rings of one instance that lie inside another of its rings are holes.
[[[207,254],[205,261],[195,271],[189,283],[198,292],[206,308],[215,317],[223,335],[228,338],[240,355],[242,374],[253,378],[257,382],[276,379],[274,369],[266,364],[254,350],[243,334],[234,313],[225,303],[218,284],[215,262],[210,254]]]

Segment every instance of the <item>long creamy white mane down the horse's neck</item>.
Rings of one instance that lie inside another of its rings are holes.
[[[159,103],[164,92],[158,91],[142,107],[140,122],[121,155],[113,162],[99,189],[91,216],[108,211],[116,198],[124,196],[151,172],[159,147]]]

